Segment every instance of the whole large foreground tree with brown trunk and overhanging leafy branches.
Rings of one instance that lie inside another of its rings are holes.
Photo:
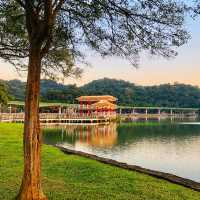
[[[24,176],[17,199],[46,199],[40,170],[41,73],[79,74],[75,64],[85,62],[87,49],[134,66],[142,51],[173,57],[189,38],[184,14],[184,4],[175,0],[0,0],[0,57],[28,71]]]

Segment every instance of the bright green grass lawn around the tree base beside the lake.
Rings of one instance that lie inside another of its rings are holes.
[[[43,188],[49,199],[199,200],[200,193],[43,145]],[[22,176],[22,125],[0,123],[0,200],[13,199]]]

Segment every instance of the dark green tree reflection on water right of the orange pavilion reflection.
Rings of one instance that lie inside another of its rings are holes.
[[[184,142],[191,137],[200,135],[200,126],[198,125],[178,125],[178,124],[160,124],[160,125],[134,125],[129,123],[121,124],[117,127],[118,145],[125,143],[132,144],[143,140],[167,141],[172,139],[177,142]]]

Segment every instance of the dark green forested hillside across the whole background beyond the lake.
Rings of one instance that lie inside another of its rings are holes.
[[[25,83],[19,80],[4,81],[15,100],[23,100]],[[74,103],[80,95],[108,94],[118,98],[119,105],[200,107],[200,88],[185,84],[138,86],[133,83],[99,79],[82,87],[63,85],[52,80],[41,81],[41,100]]]

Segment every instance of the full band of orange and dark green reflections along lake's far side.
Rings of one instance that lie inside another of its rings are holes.
[[[43,140],[47,144],[67,143],[71,145],[90,145],[99,148],[113,146],[128,146],[136,142],[151,141],[176,141],[188,142],[191,137],[200,136],[200,126],[155,124],[137,125],[124,123],[117,125],[67,125],[44,129]]]

